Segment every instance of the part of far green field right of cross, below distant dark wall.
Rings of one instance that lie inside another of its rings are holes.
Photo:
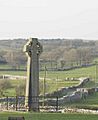
[[[67,78],[79,78],[79,77],[91,77],[95,78],[96,75],[96,67],[86,67],[86,68],[79,68],[79,69],[73,69],[68,71],[47,71],[47,78],[56,79],[65,79]],[[44,76],[44,71],[40,72],[40,76]]]

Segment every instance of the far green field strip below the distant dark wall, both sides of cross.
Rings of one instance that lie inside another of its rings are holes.
[[[97,75],[96,66],[78,68],[67,71],[46,71],[46,77],[50,79],[62,79],[66,78],[79,78],[79,77],[90,77],[92,79],[96,78]],[[0,75],[10,74],[10,75],[22,75],[26,76],[26,71],[0,71]],[[45,71],[40,71],[40,77],[44,78]]]

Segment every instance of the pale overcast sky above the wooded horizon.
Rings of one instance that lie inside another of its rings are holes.
[[[98,0],[0,0],[0,39],[98,40]]]

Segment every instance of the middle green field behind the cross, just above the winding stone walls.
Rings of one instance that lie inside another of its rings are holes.
[[[2,80],[3,81],[3,80]],[[4,90],[4,95],[5,96],[15,96],[16,95],[16,87],[21,85],[21,84],[24,84],[25,85],[25,80],[9,80],[10,83],[11,83],[11,87]],[[79,81],[59,81],[59,82],[56,82],[55,80],[46,80],[46,83],[45,83],[45,92],[46,93],[51,93],[53,91],[56,91],[58,89],[60,89],[61,87],[68,87],[68,86],[73,86],[73,85],[76,85],[78,84]],[[40,80],[40,94],[43,94],[44,93],[44,82],[43,80]],[[21,89],[19,89],[19,92],[21,92]]]

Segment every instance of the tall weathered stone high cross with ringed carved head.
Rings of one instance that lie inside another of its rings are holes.
[[[30,38],[24,46],[28,56],[25,105],[29,111],[39,111],[39,55],[42,46],[37,38]]]

